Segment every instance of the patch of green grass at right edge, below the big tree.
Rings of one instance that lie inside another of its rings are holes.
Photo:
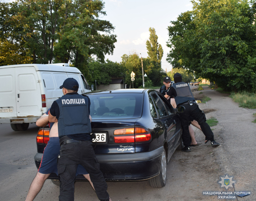
[[[232,92],[229,97],[231,97],[236,103],[239,103],[240,107],[256,109],[256,95],[254,93],[248,93],[245,91],[241,93]]]

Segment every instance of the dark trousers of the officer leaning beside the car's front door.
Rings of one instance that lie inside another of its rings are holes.
[[[206,139],[213,141],[214,134],[213,134],[211,128],[209,127],[209,125],[205,122],[204,114],[199,109],[199,106],[195,103],[193,103],[193,105],[183,104],[182,106],[184,106],[186,108],[184,113],[180,113],[180,117],[182,118],[183,145],[190,146],[190,144],[191,144],[191,137],[190,137],[189,129],[188,129],[189,122],[191,119],[195,119],[199,123]]]

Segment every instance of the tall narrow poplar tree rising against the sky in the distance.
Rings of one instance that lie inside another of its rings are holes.
[[[158,36],[154,28],[149,28],[149,40],[146,41],[148,50],[148,77],[153,82],[154,86],[161,84],[163,80],[164,71],[161,68],[161,60],[163,58],[163,48],[161,44],[158,44]]]

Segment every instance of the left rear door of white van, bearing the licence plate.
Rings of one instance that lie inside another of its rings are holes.
[[[17,117],[15,68],[0,69],[0,118]]]

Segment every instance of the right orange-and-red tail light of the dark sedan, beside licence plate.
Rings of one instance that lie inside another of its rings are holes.
[[[152,138],[147,129],[140,127],[117,129],[114,131],[114,135],[118,135],[114,137],[115,143],[147,142]]]

